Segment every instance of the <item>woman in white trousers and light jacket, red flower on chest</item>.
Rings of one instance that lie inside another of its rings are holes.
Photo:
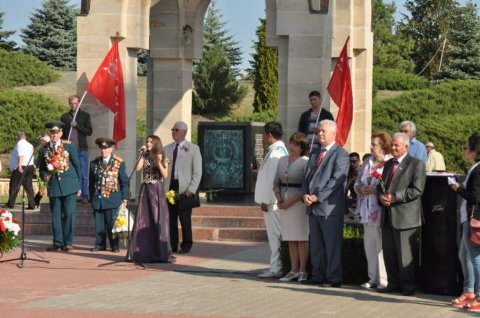
[[[381,207],[378,204],[377,185],[383,172],[383,165],[392,158],[392,138],[384,131],[371,138],[371,156],[365,160],[354,184],[357,193],[357,211],[363,224],[363,247],[368,263],[368,282],[363,288],[387,286],[387,273],[382,253],[382,228],[380,227]]]

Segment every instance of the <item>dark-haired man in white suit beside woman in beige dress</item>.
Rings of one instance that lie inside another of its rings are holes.
[[[262,278],[276,278],[282,276],[282,262],[280,261],[280,214],[277,209],[277,200],[273,192],[273,180],[277,173],[278,161],[288,155],[283,143],[283,128],[280,123],[270,122],[264,127],[263,144],[268,146],[268,153],[258,169],[257,183],[255,184],[255,202],[260,204],[267,227],[268,243],[270,244],[270,269],[259,274]]]

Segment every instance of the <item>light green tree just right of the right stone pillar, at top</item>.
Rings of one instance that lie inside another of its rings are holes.
[[[385,68],[412,71],[414,63],[410,58],[414,42],[402,32],[395,30],[395,3],[385,4],[383,0],[373,2],[373,63]]]

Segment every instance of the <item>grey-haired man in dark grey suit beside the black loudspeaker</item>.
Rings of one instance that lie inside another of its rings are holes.
[[[423,161],[408,154],[409,138],[396,133],[392,138],[393,158],[385,163],[382,183],[377,187],[382,204],[383,258],[388,286],[380,292],[401,290],[413,295],[415,282],[415,246],[422,225],[422,193],[426,173]]]

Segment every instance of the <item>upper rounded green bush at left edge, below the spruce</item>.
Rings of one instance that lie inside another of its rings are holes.
[[[0,50],[0,88],[43,85],[59,79],[57,72],[36,57]]]

